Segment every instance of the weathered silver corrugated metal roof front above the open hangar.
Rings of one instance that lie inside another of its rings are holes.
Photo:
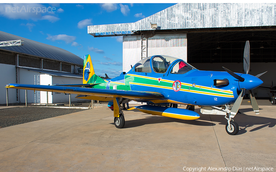
[[[179,3],[135,23],[87,26],[87,33],[131,35],[131,31],[152,30],[151,23],[161,30],[275,26],[276,3]]]

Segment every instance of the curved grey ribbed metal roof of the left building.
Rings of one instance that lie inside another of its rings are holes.
[[[70,53],[69,51],[0,31],[0,41],[12,41],[19,39],[24,41],[23,46],[7,46],[1,47],[0,49],[83,65],[82,58]]]

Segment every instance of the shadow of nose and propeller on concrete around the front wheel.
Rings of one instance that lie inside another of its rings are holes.
[[[261,110],[261,108],[260,108]],[[257,127],[249,130],[250,132],[260,130],[264,127],[274,127],[276,125],[276,119],[274,118],[267,118],[261,116],[254,116],[254,115],[246,115],[245,112],[252,112],[252,108],[244,108],[240,109],[241,114],[237,114],[234,118],[235,122],[239,125],[239,134],[244,134],[247,132],[248,127],[254,127],[254,125],[258,125]],[[202,115],[201,115],[202,116]],[[224,115],[210,115],[211,118],[206,118],[207,121],[211,122],[219,122],[220,125],[226,125],[227,120],[224,119]],[[260,125],[260,126],[259,126]]]

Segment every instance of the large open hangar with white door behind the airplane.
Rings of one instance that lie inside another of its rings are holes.
[[[199,70],[243,73],[243,50],[250,42],[250,72],[262,75],[262,86],[276,84],[276,4],[183,3],[135,23],[93,25],[94,37],[123,36],[123,71],[144,57],[181,58]],[[268,97],[263,88],[255,97]]]

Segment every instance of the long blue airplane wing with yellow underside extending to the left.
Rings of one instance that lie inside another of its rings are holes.
[[[30,85],[30,84],[8,84],[6,88],[34,90],[34,91],[48,91],[59,92],[67,94],[81,94],[93,97],[121,97],[133,100],[156,100],[164,98],[163,94],[147,91],[125,91],[125,90],[111,90],[111,89],[96,89],[83,88],[72,86],[46,86],[46,85]],[[96,100],[96,99],[93,99]]]

